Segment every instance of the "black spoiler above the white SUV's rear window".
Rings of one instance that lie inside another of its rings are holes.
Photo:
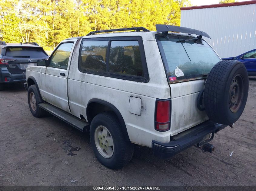
[[[207,33],[201,30],[195,30],[191,28],[178,27],[178,26],[166,25],[166,24],[156,24],[155,27],[157,32],[163,32],[165,33],[165,35],[168,32],[180,32],[180,33],[196,34],[196,35],[204,36],[211,39],[211,37]]]

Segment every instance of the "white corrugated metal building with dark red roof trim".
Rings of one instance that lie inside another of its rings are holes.
[[[181,27],[202,30],[221,58],[256,48],[256,0],[181,8]]]

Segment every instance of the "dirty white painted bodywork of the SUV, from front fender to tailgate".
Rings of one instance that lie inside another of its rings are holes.
[[[100,99],[114,105],[121,113],[131,142],[151,147],[152,140],[167,143],[170,135],[184,131],[205,120],[207,116],[196,108],[196,97],[204,80],[188,81],[169,86],[161,55],[155,40],[156,32],[118,33],[118,36],[141,36],[145,49],[149,81],[147,83],[82,73],[78,70],[80,46],[74,45],[67,70],[35,66],[27,68],[26,78],[33,76],[38,82],[45,101],[87,119],[86,107],[91,99]],[[111,37],[117,33],[99,34],[83,38]],[[80,45],[81,39],[78,41]],[[70,66],[70,67],[69,67]],[[68,74],[65,77],[59,73]],[[68,85],[67,83],[68,82]],[[171,91],[170,91],[171,89]],[[68,92],[67,92],[68,91]],[[171,95],[172,93],[172,95]],[[171,130],[155,130],[156,99],[171,98]]]

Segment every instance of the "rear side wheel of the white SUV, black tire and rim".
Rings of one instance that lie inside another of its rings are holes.
[[[97,159],[104,166],[120,169],[132,158],[134,145],[127,142],[121,124],[112,112],[96,115],[90,126],[90,140]]]

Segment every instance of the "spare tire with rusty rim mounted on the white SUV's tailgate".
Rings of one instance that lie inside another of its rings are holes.
[[[232,125],[244,111],[249,79],[242,62],[222,60],[211,69],[204,88],[204,107],[208,117]]]

